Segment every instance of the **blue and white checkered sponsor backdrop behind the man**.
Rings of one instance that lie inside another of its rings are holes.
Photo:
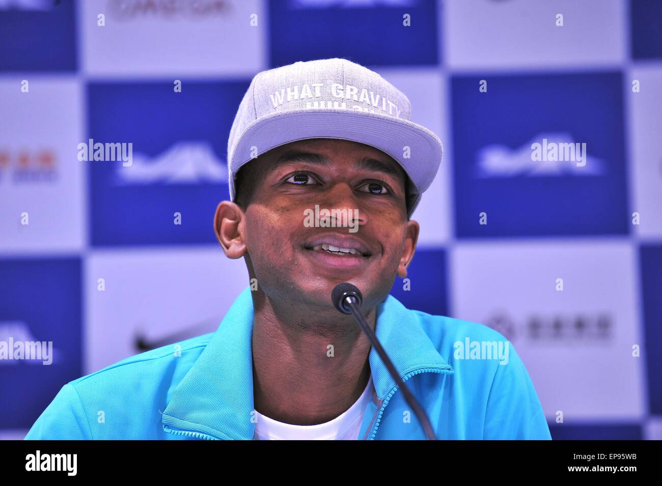
[[[340,57],[446,148],[393,295],[510,339],[553,438],[662,438],[661,32],[660,0],[0,0],[0,341],[53,343],[0,360],[0,436],[216,329],[248,285],[212,223],[241,97]],[[134,177],[89,139],[132,142]]]

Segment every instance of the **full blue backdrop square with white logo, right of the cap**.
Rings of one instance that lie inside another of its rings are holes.
[[[622,82],[620,72],[453,77],[457,236],[628,233]]]

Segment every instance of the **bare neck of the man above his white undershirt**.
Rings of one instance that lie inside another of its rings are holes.
[[[370,342],[352,315],[331,305],[275,302],[253,293],[255,409],[293,425],[316,425],[354,405],[370,378]],[[375,329],[377,309],[366,316]]]

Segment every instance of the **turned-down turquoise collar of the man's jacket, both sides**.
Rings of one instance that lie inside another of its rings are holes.
[[[164,425],[177,425],[219,438],[253,438],[253,319],[253,300],[248,286],[173,390],[163,413]],[[454,372],[412,311],[391,295],[377,306],[375,334],[401,377],[422,368]],[[374,348],[368,359],[375,391],[379,400],[384,399],[395,381]]]

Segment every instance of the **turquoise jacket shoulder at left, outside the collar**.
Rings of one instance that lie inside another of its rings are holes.
[[[68,382],[26,439],[157,438],[158,411],[212,336],[167,344]]]

